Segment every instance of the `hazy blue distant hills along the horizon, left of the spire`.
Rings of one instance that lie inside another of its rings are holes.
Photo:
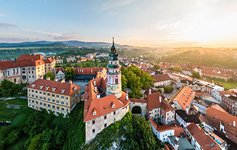
[[[111,43],[106,42],[84,42],[84,41],[34,41],[21,43],[0,43],[0,48],[26,48],[26,47],[88,47],[88,48],[108,48]],[[118,47],[130,47],[119,45]]]

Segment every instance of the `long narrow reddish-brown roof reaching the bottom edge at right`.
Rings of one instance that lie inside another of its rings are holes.
[[[202,147],[202,149],[205,150],[219,150],[220,147],[217,145],[217,143],[208,135],[205,134],[205,132],[198,127],[195,123],[191,123],[187,126],[188,131],[190,134],[195,138],[195,140],[198,142],[198,144]]]

